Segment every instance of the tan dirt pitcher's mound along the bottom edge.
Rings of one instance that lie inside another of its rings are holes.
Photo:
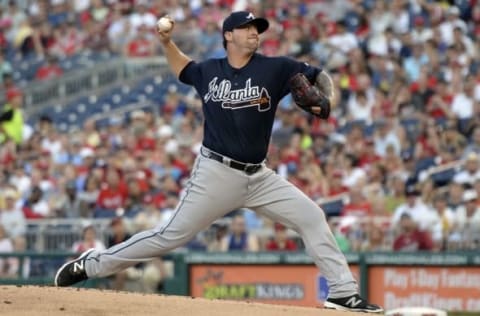
[[[318,308],[127,292],[0,286],[0,315],[35,316],[354,316]],[[364,315],[364,314],[363,314]]]

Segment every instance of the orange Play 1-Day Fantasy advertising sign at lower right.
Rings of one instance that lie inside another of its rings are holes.
[[[480,267],[371,266],[368,271],[369,300],[386,310],[480,311]]]

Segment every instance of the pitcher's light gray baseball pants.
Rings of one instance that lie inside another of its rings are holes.
[[[198,155],[190,179],[169,222],[135,234],[86,260],[89,278],[105,277],[184,245],[216,219],[248,208],[300,234],[308,254],[329,283],[329,297],[358,293],[324,212],[293,184],[264,166],[247,175]]]

